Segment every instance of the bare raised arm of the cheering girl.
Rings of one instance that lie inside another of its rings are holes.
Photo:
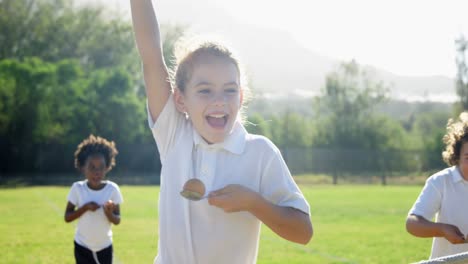
[[[166,104],[171,85],[164,62],[161,34],[152,0],[131,0],[133,29],[143,64],[148,106],[153,122]]]

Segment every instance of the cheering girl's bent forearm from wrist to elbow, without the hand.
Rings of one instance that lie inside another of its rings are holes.
[[[259,195],[250,213],[284,239],[304,245],[312,239],[310,217],[298,209],[275,205]]]

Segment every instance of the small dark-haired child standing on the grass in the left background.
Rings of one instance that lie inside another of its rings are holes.
[[[111,223],[120,223],[119,186],[105,180],[118,151],[113,141],[90,135],[75,151],[75,167],[85,180],[73,183],[65,222],[79,218],[75,232],[76,263],[112,263]]]

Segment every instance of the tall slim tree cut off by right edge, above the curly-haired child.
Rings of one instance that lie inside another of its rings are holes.
[[[460,99],[461,111],[468,110],[468,65],[466,62],[466,53],[468,41],[464,36],[460,36],[455,40],[456,47],[456,64],[457,64],[457,79],[456,89]]]

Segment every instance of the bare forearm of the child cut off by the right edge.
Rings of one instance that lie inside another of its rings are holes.
[[[406,230],[417,237],[445,237],[452,244],[465,243],[465,236],[454,225],[435,223],[426,218],[411,214],[406,219]]]

